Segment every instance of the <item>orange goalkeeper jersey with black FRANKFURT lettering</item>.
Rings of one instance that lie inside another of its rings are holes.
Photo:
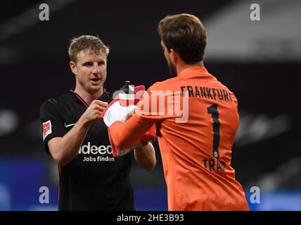
[[[170,103],[165,98],[161,113],[136,113],[123,124],[115,122],[110,127],[114,143],[132,146],[156,123],[169,210],[248,210],[231,167],[239,124],[236,96],[200,67],[186,68],[177,77],[153,84],[141,104],[156,91],[177,91],[186,97],[187,104],[180,104],[184,113],[167,112]],[[155,105],[160,108],[160,103]],[[188,117],[180,121],[184,114]]]

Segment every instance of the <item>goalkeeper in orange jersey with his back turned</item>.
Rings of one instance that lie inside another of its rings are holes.
[[[136,110],[124,123],[115,113],[121,107],[118,102],[108,108],[104,121],[113,142],[127,148],[156,124],[169,210],[249,210],[231,167],[238,101],[204,66],[207,34],[203,24],[194,15],[169,15],[160,21],[158,32],[175,76],[153,84],[140,102],[143,110]],[[177,94],[183,98],[183,104],[179,98],[178,105],[183,105],[179,114],[173,108]],[[157,113],[160,99],[165,107]]]

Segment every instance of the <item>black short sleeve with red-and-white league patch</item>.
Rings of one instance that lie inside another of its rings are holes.
[[[48,142],[55,137],[63,137],[66,130],[55,99],[49,99],[41,105],[40,121],[42,125],[45,150],[49,153]]]

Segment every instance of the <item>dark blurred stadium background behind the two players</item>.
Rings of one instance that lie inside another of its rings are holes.
[[[39,4],[50,20],[39,20]],[[260,21],[250,5],[260,4]],[[205,66],[238,97],[241,125],[232,165],[251,210],[301,210],[301,1],[1,1],[0,210],[56,210],[58,169],[41,139],[39,107],[74,86],[68,66],[71,37],[97,34],[110,46],[105,88],[124,80],[150,86],[169,78],[156,27],[172,13],[193,13],[209,44]],[[157,145],[157,143],[155,143]],[[132,167],[138,210],[167,210],[158,166]],[[39,203],[49,187],[50,203]]]

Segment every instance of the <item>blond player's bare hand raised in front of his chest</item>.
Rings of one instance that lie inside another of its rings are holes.
[[[86,112],[82,115],[83,119],[88,122],[96,122],[102,120],[101,113],[108,107],[108,103],[104,101],[94,100],[91,102]]]

